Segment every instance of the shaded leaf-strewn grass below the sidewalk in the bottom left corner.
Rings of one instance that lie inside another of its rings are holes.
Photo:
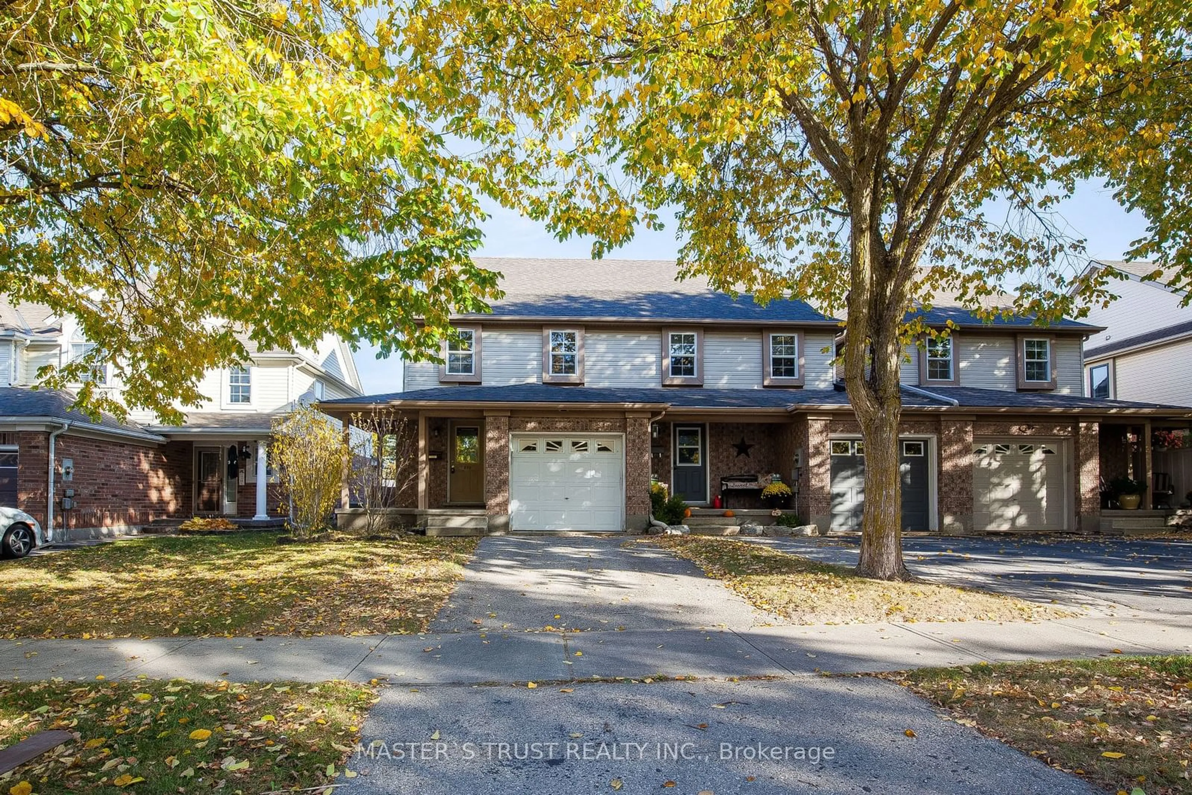
[[[45,729],[76,738],[0,776],[0,791],[317,787],[350,766],[375,698],[347,682],[0,682],[0,747]]]

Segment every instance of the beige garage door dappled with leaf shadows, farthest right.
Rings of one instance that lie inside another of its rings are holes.
[[[1064,447],[979,440],[973,446],[973,524],[977,530],[1063,530]]]

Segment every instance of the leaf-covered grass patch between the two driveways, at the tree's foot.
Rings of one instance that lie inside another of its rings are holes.
[[[794,623],[1026,621],[1069,616],[1050,605],[929,583],[888,583],[751,541],[672,535],[652,539],[700,566],[753,607]]]

